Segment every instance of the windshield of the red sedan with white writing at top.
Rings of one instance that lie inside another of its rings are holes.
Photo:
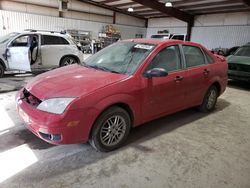
[[[154,49],[153,44],[117,42],[86,59],[84,66],[120,74],[133,74]]]

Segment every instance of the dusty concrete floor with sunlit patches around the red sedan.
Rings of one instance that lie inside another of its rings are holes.
[[[0,94],[0,187],[250,187],[250,86],[230,82],[217,109],[185,110],[132,130],[126,146],[52,146]]]

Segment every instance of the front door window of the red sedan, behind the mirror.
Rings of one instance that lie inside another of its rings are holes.
[[[163,68],[167,72],[181,69],[179,47],[169,46],[161,50],[150,63],[148,70],[153,68]]]

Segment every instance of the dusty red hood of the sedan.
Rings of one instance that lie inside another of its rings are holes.
[[[128,75],[71,65],[36,76],[26,89],[39,99],[80,97],[126,77]]]

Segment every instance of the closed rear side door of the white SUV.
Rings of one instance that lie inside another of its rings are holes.
[[[67,55],[69,42],[60,36],[41,36],[42,65],[40,68],[58,67],[61,58]]]

